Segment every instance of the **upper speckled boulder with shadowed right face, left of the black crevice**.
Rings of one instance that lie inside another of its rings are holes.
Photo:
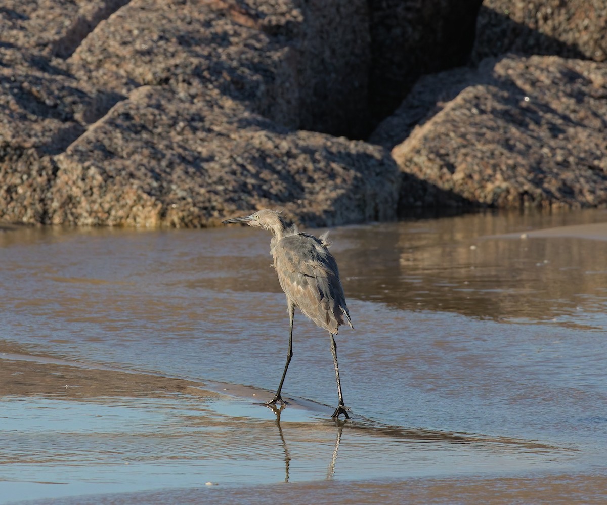
[[[362,0],[132,0],[68,64],[78,80],[117,95],[146,85],[212,87],[284,126],[352,136],[365,114],[365,21]]]

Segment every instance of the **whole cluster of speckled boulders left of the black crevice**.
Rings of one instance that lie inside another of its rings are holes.
[[[386,151],[296,130],[356,136],[369,58],[364,0],[9,0],[2,219],[203,226],[263,206],[317,225],[390,219]]]

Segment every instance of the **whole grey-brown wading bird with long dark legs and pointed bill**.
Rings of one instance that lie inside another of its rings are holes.
[[[287,368],[293,358],[293,315],[297,307],[318,327],[324,328],[331,335],[331,354],[333,354],[337,395],[339,396],[339,405],[331,418],[337,419],[340,414],[344,414],[347,419],[350,418],[348,409],[344,405],[344,396],[339,381],[337,345],[334,335],[337,334],[340,325],[347,324],[351,328],[354,327],[345,304],[344,288],[339,280],[337,262],[328,250],[330,245],[330,242],[327,241],[328,232],[322,234],[319,239],[307,233],[298,232],[295,226],[287,226],[278,212],[270,210],[227,219],[223,223],[246,223],[249,226],[272,232],[270,254],[274,257],[274,268],[278,274],[280,287],[287,295],[289,313],[287,364],[282,372],[276,395],[264,405],[276,405],[276,402],[285,404],[280,396],[280,391],[285,382],[285,376],[287,376]]]

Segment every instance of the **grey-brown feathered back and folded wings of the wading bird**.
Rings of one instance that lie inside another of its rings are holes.
[[[337,333],[339,325],[352,326],[337,263],[323,240],[287,234],[274,244],[273,256],[288,302],[331,333]]]

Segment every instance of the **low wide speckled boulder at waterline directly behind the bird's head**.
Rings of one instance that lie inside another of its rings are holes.
[[[292,132],[228,97],[192,101],[151,86],[55,159],[53,223],[202,226],[280,203],[331,225],[390,219],[398,193],[377,147]]]

